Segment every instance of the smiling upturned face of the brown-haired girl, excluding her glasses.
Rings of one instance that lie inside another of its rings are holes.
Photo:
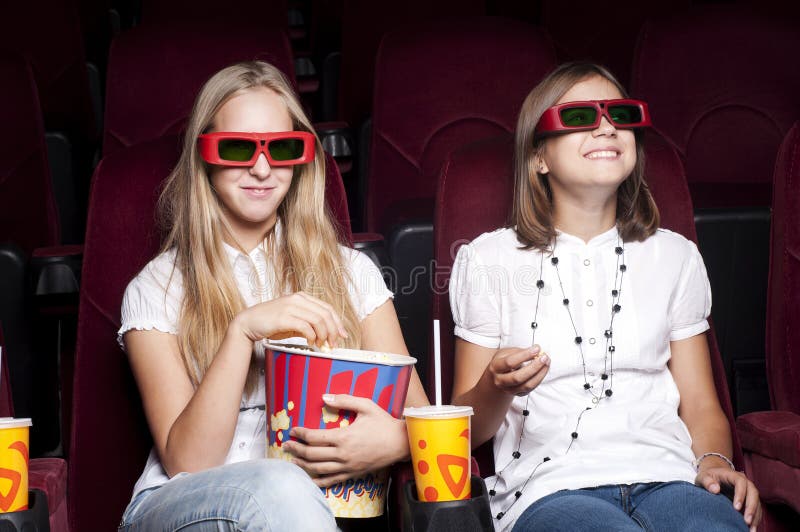
[[[593,76],[573,85],[556,103],[622,97],[609,80]],[[613,195],[635,164],[633,131],[616,129],[603,117],[596,129],[548,138],[537,161],[537,171],[547,174],[553,197],[558,201],[567,195]]]

